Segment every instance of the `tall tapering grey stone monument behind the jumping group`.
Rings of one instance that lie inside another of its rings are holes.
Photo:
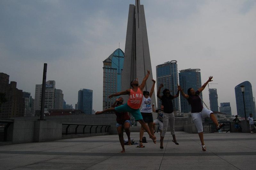
[[[139,83],[147,74],[148,77],[144,90],[150,91],[153,82],[152,67],[148,46],[148,34],[143,5],[140,0],[135,1],[136,5],[130,4],[125,41],[125,58],[122,72],[122,91],[130,89],[132,80],[138,78]],[[123,96],[124,101],[128,100],[128,95]],[[151,103],[156,103],[155,93],[151,97]]]

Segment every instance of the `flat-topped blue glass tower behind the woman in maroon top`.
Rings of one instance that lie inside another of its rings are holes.
[[[200,69],[189,68],[185,70],[180,70],[179,82],[185,93],[187,93],[187,90],[189,88],[193,88],[196,91],[201,87],[202,84]],[[202,93],[200,93],[199,96],[203,99]],[[191,106],[188,104],[188,100],[184,97],[180,97],[180,112],[191,112]]]

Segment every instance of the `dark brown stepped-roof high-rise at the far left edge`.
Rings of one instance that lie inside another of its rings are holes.
[[[24,117],[25,103],[22,90],[16,88],[17,82],[11,81],[9,75],[0,73],[0,93],[6,102],[0,105],[0,119]]]

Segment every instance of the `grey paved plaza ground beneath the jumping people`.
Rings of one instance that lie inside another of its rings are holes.
[[[139,133],[131,137],[138,142]],[[256,169],[256,134],[204,134],[205,152],[197,134],[176,132],[175,145],[168,133],[163,150],[159,133],[157,144],[146,137],[145,148],[125,153],[117,135],[0,146],[0,169]]]

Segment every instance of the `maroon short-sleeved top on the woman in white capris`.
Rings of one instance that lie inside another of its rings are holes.
[[[188,102],[191,105],[191,113],[197,113],[203,110],[203,104],[199,94],[200,92],[197,90],[196,95],[189,95]]]

